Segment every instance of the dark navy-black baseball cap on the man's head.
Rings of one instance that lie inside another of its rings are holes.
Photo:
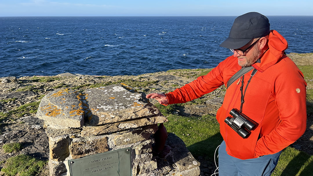
[[[245,13],[234,20],[228,38],[219,46],[238,49],[249,43],[253,38],[269,34],[269,19],[257,12]]]

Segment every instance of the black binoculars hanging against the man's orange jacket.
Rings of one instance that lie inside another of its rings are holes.
[[[229,114],[233,117],[225,118],[224,122],[233,128],[242,138],[248,138],[251,133],[250,131],[254,129],[256,123],[235,108]]]

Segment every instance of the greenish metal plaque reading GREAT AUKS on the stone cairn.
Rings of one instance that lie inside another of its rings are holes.
[[[131,176],[131,148],[68,160],[71,176]]]

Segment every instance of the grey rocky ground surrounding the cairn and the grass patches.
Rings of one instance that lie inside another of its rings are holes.
[[[313,65],[313,53],[290,53],[298,65]],[[5,161],[19,154],[28,154],[40,160],[48,160],[49,143],[44,133],[43,121],[36,118],[33,110],[38,102],[47,93],[56,88],[73,88],[84,90],[100,87],[112,83],[126,83],[143,93],[166,93],[191,82],[199,75],[205,74],[208,69],[171,70],[168,72],[147,73],[138,76],[89,76],[63,73],[57,76],[33,77],[5,77],[0,78],[0,169]],[[312,89],[313,80],[307,80],[308,89]],[[180,113],[182,115],[215,115],[223,97],[225,88],[221,87],[203,98],[216,100],[212,103],[186,104]],[[152,103],[156,103],[153,102]],[[308,125],[305,134],[292,146],[313,155],[313,120],[308,114]],[[22,150],[5,153],[2,146],[7,143],[19,142]],[[202,175],[211,175],[215,166],[206,164],[203,157],[199,157]],[[1,174],[0,174],[1,175]],[[49,175],[48,168],[40,175]]]

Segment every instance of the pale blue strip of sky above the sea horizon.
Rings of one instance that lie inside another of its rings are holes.
[[[313,15],[312,0],[0,0],[0,16]]]

